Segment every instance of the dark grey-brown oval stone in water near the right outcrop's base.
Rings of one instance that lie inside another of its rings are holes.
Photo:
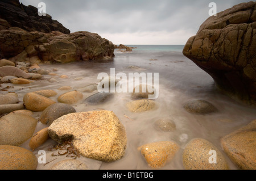
[[[208,114],[217,112],[217,108],[213,106],[213,104],[207,102],[206,100],[192,100],[184,105],[184,108],[189,113],[195,114]]]

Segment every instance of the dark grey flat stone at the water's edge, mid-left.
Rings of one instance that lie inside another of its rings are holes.
[[[109,92],[98,92],[85,99],[88,104],[102,104],[112,99],[114,94]]]

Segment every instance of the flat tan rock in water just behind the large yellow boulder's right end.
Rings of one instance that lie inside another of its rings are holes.
[[[134,100],[133,102],[129,102],[126,104],[126,107],[131,112],[140,113],[140,112],[154,110],[156,108],[156,104],[153,100],[142,99],[142,100]]]

